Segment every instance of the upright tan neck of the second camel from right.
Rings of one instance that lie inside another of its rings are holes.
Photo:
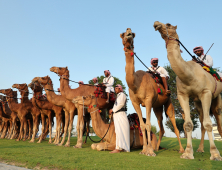
[[[129,88],[136,92],[137,88],[135,85],[135,67],[134,67],[134,56],[131,55],[133,51],[125,52],[126,56],[126,82]]]

